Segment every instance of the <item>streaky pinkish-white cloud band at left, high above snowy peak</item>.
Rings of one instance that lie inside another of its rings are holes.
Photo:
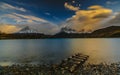
[[[42,22],[48,22],[42,18],[31,16],[31,15],[23,15],[18,13],[11,13],[11,14],[4,14],[0,16],[0,19],[5,20],[13,20],[15,23],[42,23]]]

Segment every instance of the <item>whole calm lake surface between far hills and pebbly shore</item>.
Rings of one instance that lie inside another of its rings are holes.
[[[120,39],[0,40],[0,65],[59,63],[75,53],[89,55],[89,63],[120,61]]]

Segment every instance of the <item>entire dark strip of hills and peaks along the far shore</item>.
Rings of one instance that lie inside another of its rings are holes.
[[[28,32],[28,27],[22,29],[22,32]],[[69,29],[70,31],[71,29]],[[31,31],[31,30],[30,30]],[[92,33],[76,33],[66,32],[63,29],[55,35],[45,35],[43,33],[14,33],[14,34],[0,34],[0,39],[39,39],[39,38],[119,38],[120,26],[110,26],[98,29]]]

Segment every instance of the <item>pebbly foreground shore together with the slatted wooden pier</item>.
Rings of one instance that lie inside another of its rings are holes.
[[[118,75],[120,62],[86,63],[89,56],[75,54],[59,64],[12,64],[0,66],[0,75]]]

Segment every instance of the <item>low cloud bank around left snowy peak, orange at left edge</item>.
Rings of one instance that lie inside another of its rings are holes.
[[[54,35],[60,32],[60,27],[53,23],[18,24],[18,25],[0,24],[0,32],[7,33],[7,34],[17,33],[26,26],[28,26],[32,31],[35,31],[38,33],[44,33],[48,35]]]

